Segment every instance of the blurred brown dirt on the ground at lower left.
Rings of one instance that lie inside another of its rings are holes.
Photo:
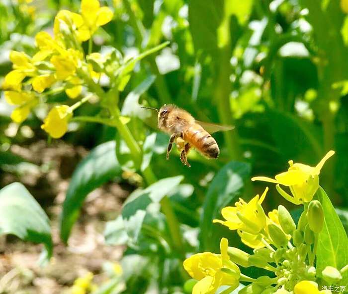
[[[103,263],[119,260],[123,248],[104,245],[102,232],[105,222],[119,213],[129,192],[114,182],[91,192],[65,246],[59,238],[59,214],[69,179],[88,151],[63,141],[50,146],[45,141],[24,147],[13,145],[11,151],[36,167],[1,175],[0,187],[20,181],[43,206],[52,224],[54,256],[46,267],[40,268],[37,261],[42,245],[13,236],[0,237],[0,294],[69,293],[74,280],[88,271],[95,274],[96,284],[105,280]]]

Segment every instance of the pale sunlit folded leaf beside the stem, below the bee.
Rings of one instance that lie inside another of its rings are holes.
[[[129,238],[136,242],[146,210],[152,203],[159,204],[164,196],[173,191],[183,176],[163,178],[143,190],[134,191],[127,198],[122,209],[122,218]]]

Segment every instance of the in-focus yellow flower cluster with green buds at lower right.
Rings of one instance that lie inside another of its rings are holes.
[[[319,173],[325,161],[334,154],[330,151],[316,167],[293,164],[287,172],[275,179],[256,177],[290,187],[293,197],[281,195],[292,203],[304,203],[304,211],[296,225],[288,210],[279,205],[277,210],[265,214],[261,204],[268,188],[248,203],[243,199],[233,207],[222,209],[224,220],[214,220],[230,230],[237,230],[244,244],[253,249],[253,254],[236,247],[228,247],[221,239],[221,253],[203,252],[188,257],[183,265],[188,274],[198,282],[193,294],[214,294],[220,286],[229,286],[231,293],[239,282],[248,286],[239,294],[329,294],[331,291],[318,289],[318,280],[324,285],[339,285],[342,274],[348,268],[336,269],[328,266],[320,273],[315,268],[318,235],[323,229],[324,212],[321,203],[313,200],[319,187]],[[259,267],[272,272],[270,276],[257,279],[241,273],[240,267]],[[225,291],[223,293],[225,293]]]

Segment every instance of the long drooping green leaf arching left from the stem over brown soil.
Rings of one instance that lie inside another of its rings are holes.
[[[122,170],[115,156],[115,147],[115,141],[96,146],[74,171],[61,215],[60,229],[64,242],[67,242],[69,238],[87,194],[121,174]]]

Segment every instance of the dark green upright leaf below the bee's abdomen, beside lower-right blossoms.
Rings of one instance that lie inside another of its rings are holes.
[[[213,178],[203,203],[199,236],[202,250],[215,247],[211,244],[212,240],[217,240],[214,238],[217,227],[213,224],[213,219],[220,218],[221,209],[241,195],[244,182],[249,176],[248,164],[231,161]]]

